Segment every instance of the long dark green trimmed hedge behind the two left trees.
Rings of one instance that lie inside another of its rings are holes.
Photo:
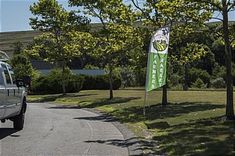
[[[80,90],[108,90],[109,77],[102,76],[85,76],[74,75],[70,72],[66,73],[62,78],[60,70],[53,70],[47,76],[39,76],[32,82],[31,94],[59,94],[63,93],[62,81],[65,81],[67,93],[79,92]],[[113,76],[113,89],[121,87],[121,79],[118,76]]]

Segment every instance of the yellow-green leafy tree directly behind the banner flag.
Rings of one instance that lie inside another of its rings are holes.
[[[171,39],[169,54],[181,58],[182,55],[175,54],[174,49],[183,47],[174,47],[174,42],[185,42],[184,39],[204,26],[204,22],[209,19],[212,12],[208,10],[209,6],[195,3],[193,0],[147,0],[144,4],[139,5],[138,0],[131,0],[133,5],[138,9],[143,23],[154,30],[164,27],[171,27]],[[198,46],[196,43],[185,45],[188,49],[190,45]],[[197,47],[200,49],[200,47]],[[179,52],[179,51],[178,51]],[[195,51],[187,50],[190,57],[195,55]],[[199,52],[198,54],[200,54]],[[186,60],[189,60],[186,59]],[[162,105],[167,104],[167,85],[163,87]]]

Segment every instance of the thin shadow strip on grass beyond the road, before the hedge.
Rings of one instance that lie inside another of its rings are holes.
[[[54,102],[59,98],[75,98],[75,97],[85,97],[85,96],[92,96],[92,95],[97,95],[97,94],[66,94],[66,95],[62,95],[62,94],[56,94],[56,95],[49,95],[49,96],[43,96],[40,97],[39,99],[35,99],[35,100],[30,100],[29,102]]]

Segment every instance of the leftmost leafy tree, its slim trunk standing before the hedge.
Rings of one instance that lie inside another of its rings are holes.
[[[30,18],[33,29],[44,32],[35,38],[30,55],[55,64],[66,74],[68,62],[83,52],[84,43],[90,40],[90,34],[78,32],[86,30],[89,22],[85,17],[73,11],[66,11],[56,0],[39,0],[30,6],[34,18]],[[76,44],[74,44],[76,42]],[[64,80],[65,81],[65,80]],[[66,93],[62,83],[63,93]]]

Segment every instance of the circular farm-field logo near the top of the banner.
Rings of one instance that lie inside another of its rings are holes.
[[[153,47],[156,49],[158,52],[163,52],[167,49],[168,47],[168,39],[166,36],[156,36],[155,40],[153,41]]]

